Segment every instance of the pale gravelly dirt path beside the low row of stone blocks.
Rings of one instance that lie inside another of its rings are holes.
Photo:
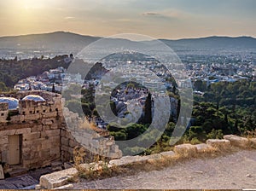
[[[161,171],[74,184],[75,189],[241,189],[256,188],[256,150],[216,159],[192,159]]]

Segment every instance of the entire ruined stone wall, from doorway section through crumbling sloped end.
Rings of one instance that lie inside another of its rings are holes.
[[[28,95],[42,96],[45,101],[23,101],[22,98]],[[5,173],[20,167],[30,170],[50,165],[53,161],[73,160],[73,148],[82,145],[85,150],[95,148],[89,153],[99,153],[100,149],[111,153],[113,158],[121,157],[112,137],[101,140],[102,136],[96,132],[91,134],[81,129],[83,120],[78,114],[66,108],[68,114],[64,119],[61,95],[26,91],[12,97],[20,100],[19,107],[11,110],[12,115],[9,115],[8,103],[0,103],[0,162],[9,164],[9,136],[19,135],[20,164],[5,169]],[[73,129],[67,128],[66,121],[73,124]]]

